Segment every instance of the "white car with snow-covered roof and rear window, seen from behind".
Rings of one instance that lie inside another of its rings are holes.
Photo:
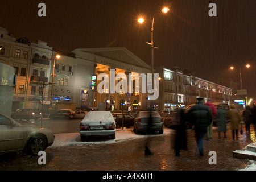
[[[110,136],[115,139],[115,119],[110,111],[90,111],[80,122],[80,137]]]

